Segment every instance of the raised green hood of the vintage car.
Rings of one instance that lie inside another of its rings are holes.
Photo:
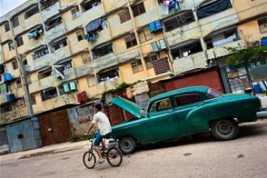
[[[134,104],[134,102],[131,102],[129,100],[126,100],[122,97],[115,97],[110,101],[110,104],[115,104],[121,108],[123,108],[125,111],[129,112],[130,114],[133,114],[137,118],[141,118],[140,111],[142,110],[142,107],[138,104]]]

